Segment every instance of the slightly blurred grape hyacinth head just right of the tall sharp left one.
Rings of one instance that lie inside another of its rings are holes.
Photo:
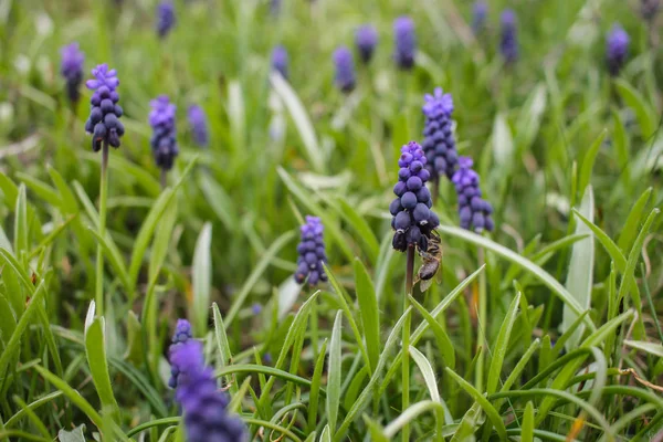
[[[175,137],[176,107],[166,95],[158,96],[149,102],[149,105],[151,106],[149,125],[154,129],[149,144],[157,166],[164,170],[170,170],[175,164],[175,158],[179,154]]]

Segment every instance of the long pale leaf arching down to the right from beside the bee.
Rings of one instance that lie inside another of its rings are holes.
[[[514,252],[503,245],[499,245],[499,244],[488,240],[487,238],[484,238],[482,235],[478,235],[476,233],[470,232],[470,231],[461,229],[461,228],[454,228],[454,227],[450,227],[450,225],[440,225],[438,228],[438,230],[442,233],[446,233],[449,235],[459,238],[463,241],[471,242],[478,246],[483,246],[483,248],[494,252],[495,254],[522,266],[524,270],[526,270],[534,276],[538,277],[546,286],[548,286],[548,288],[550,288],[550,291],[556,296],[558,296],[565,304],[569,305],[571,311],[573,311],[578,315],[582,314],[582,312],[583,312],[582,306],[578,303],[578,301],[576,301],[573,295],[571,295],[561,284],[559,284],[559,282],[557,282],[557,280],[555,280],[548,272],[546,272],[538,265],[534,264],[532,261],[527,260],[526,257],[520,256],[516,252]],[[596,329],[594,324],[591,322],[591,319],[588,316],[586,316],[586,323],[587,323],[587,326],[591,330]]]

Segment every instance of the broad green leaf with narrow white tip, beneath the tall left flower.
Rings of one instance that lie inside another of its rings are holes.
[[[94,301],[90,304],[87,317],[94,317],[95,304]],[[91,316],[92,315],[92,316]],[[87,356],[87,365],[92,373],[92,381],[102,404],[110,410],[112,414],[118,417],[119,409],[113,387],[110,386],[110,375],[108,373],[108,362],[106,360],[106,332],[105,318],[98,317],[90,324],[85,324],[85,355]]]

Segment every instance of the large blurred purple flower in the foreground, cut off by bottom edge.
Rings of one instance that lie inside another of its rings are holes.
[[[180,369],[176,399],[181,404],[188,442],[244,442],[246,425],[228,412],[230,399],[217,387],[211,367],[204,365],[202,344],[189,339],[170,356]]]

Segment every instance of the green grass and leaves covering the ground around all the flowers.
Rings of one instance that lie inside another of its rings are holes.
[[[155,2],[119,3],[0,2],[0,441],[186,440],[167,388],[179,317],[251,440],[661,436],[661,17],[621,0],[511,2],[520,59],[505,65],[503,0],[476,36],[464,1],[284,0],[274,15],[267,1],[181,0],[164,40]],[[392,60],[403,13],[410,72]],[[617,21],[631,46],[611,77]],[[346,95],[332,53],[362,23],[379,43],[370,65],[355,57]],[[90,94],[72,106],[59,75],[72,41],[86,74],[108,63],[120,80],[105,198]],[[287,82],[270,75],[276,44]],[[436,86],[496,230],[457,228],[442,182],[441,282],[408,294],[387,209]],[[180,145],[165,188],[147,124],[160,94]],[[306,214],[325,225],[319,290],[293,280]]]

